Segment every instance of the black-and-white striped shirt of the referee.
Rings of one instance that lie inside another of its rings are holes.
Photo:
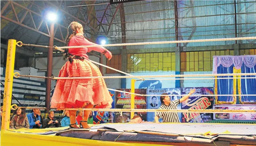
[[[162,104],[159,109],[168,109],[168,110],[176,110],[178,104],[180,104],[179,99],[171,101],[169,106],[166,106],[165,104]],[[158,117],[163,117],[163,122],[168,122],[168,123],[180,123],[179,121],[179,116],[177,112],[157,112],[156,116]]]

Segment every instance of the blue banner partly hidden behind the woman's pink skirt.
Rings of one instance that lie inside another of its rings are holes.
[[[111,109],[115,109],[115,91],[108,90],[111,95],[113,102]],[[93,124],[113,123],[115,114],[108,111],[94,111],[93,113]]]

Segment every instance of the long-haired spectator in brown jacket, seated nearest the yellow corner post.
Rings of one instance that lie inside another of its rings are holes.
[[[25,109],[18,108],[16,114],[11,119],[10,129],[29,128],[28,117]]]

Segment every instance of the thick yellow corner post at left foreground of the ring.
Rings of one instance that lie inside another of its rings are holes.
[[[10,126],[11,95],[13,92],[14,60],[15,60],[16,40],[8,40],[8,51],[5,70],[5,86],[3,101],[2,129],[7,130]]]

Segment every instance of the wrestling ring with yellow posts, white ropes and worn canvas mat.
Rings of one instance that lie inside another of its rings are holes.
[[[163,41],[163,42],[141,42],[127,44],[109,44],[109,45],[91,45],[91,46],[71,46],[76,47],[95,47],[95,46],[124,46],[124,45],[146,45],[146,44],[168,44],[168,43],[183,43],[183,42],[203,42],[203,41],[226,41],[226,40],[248,40],[256,39],[256,37],[237,37],[225,39],[206,39],[206,40],[182,40],[182,41]],[[3,102],[3,119],[1,129],[1,145],[13,146],[16,145],[14,139],[19,140],[20,146],[45,146],[46,143],[54,146],[253,146],[256,145],[256,124],[212,124],[212,123],[113,123],[90,125],[91,129],[70,129],[67,127],[47,128],[47,129],[9,129],[10,111],[18,108],[17,105],[11,105],[11,95],[13,88],[13,77],[39,77],[52,80],[65,79],[115,79],[129,78],[131,79],[131,92],[125,92],[115,89],[112,91],[124,92],[131,94],[131,109],[79,109],[92,111],[113,111],[113,112],[131,112],[131,117],[134,112],[185,112],[185,113],[247,113],[256,114],[256,110],[159,110],[159,109],[135,109],[135,95],[139,96],[154,96],[135,93],[135,82],[137,80],[217,80],[217,79],[255,79],[256,73],[244,74],[197,74],[197,75],[154,75],[154,76],[134,76],[122,72],[112,67],[91,62],[115,70],[126,76],[94,76],[94,77],[44,77],[20,75],[14,73],[15,50],[17,46],[27,45],[34,47],[52,48],[59,51],[64,51],[65,48],[58,46],[40,46],[32,44],[23,44],[16,40],[8,41],[8,53],[6,62],[5,87],[4,87],[4,102]],[[216,78],[217,76],[220,76]],[[245,77],[223,77],[223,76],[245,76]],[[166,77],[166,78],[164,78]],[[173,78],[169,78],[173,77]],[[189,77],[189,78],[176,78]],[[203,78],[197,78],[203,77]],[[137,79],[137,80],[136,80]],[[157,95],[161,96],[161,95]],[[177,95],[186,96],[186,95]],[[205,96],[205,95],[193,95]],[[207,96],[241,96],[241,95],[207,95]],[[245,95],[243,95],[245,96]],[[256,96],[256,95],[247,95]],[[46,107],[20,107],[25,109],[46,109]],[[58,110],[77,110],[77,109],[58,109]]]

